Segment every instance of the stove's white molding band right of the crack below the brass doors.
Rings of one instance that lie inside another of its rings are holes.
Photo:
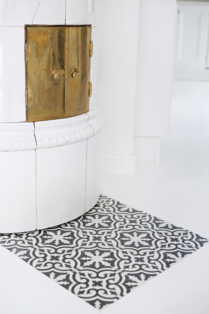
[[[37,149],[83,141],[99,133],[103,125],[98,105],[79,116],[35,122]]]

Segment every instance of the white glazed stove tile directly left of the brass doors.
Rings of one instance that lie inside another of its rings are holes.
[[[0,122],[25,121],[24,28],[0,27]]]

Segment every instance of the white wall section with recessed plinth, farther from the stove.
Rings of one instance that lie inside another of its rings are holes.
[[[176,0],[140,0],[134,153],[159,160],[169,131]]]

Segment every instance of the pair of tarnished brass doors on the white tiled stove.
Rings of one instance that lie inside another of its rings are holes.
[[[26,27],[26,121],[89,110],[91,26]]]

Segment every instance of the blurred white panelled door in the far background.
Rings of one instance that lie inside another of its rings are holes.
[[[175,79],[209,79],[208,20],[209,5],[178,4]]]

